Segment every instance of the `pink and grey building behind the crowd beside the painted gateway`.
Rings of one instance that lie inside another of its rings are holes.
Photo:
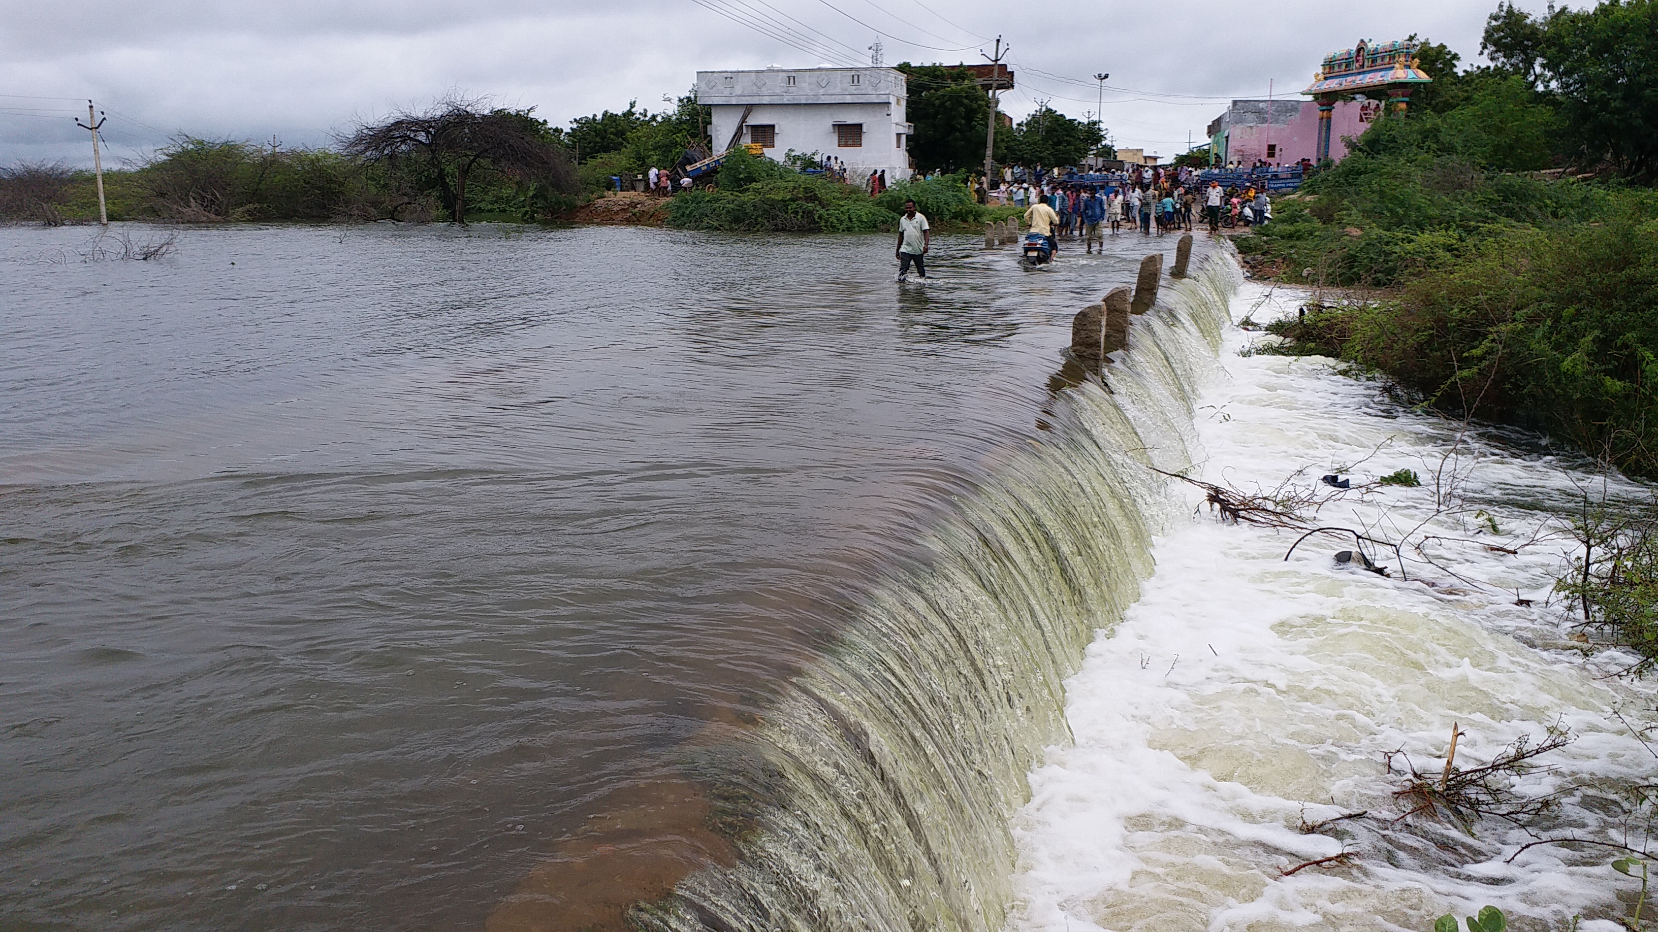
[[[1255,164],[1265,159],[1272,164],[1295,164],[1302,159],[1318,161],[1318,101],[1235,100],[1225,113],[1209,124],[1209,144],[1214,164]],[[1331,114],[1330,158],[1346,156],[1346,138],[1370,128],[1381,116],[1379,100],[1338,101]]]

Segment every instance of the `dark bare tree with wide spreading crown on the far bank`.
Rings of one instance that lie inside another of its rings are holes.
[[[342,148],[366,161],[419,161],[454,222],[466,226],[466,179],[479,164],[521,181],[575,191],[575,166],[529,109],[484,109],[482,100],[446,98],[424,113],[403,111],[361,124]]]

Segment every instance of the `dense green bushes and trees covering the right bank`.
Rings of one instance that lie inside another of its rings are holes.
[[[1658,476],[1658,3],[1504,3],[1434,91],[1242,237],[1257,274],[1384,289],[1273,327],[1437,408]]]

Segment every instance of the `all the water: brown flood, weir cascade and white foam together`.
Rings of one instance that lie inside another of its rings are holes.
[[[1650,766],[1608,710],[1646,700],[1544,604],[1563,544],[1530,537],[1590,476],[1524,438],[1459,448],[1484,517],[1328,506],[1437,529],[1409,579],[1194,514],[1152,466],[1270,488],[1456,443],[1240,357],[1230,322],[1293,295],[1224,252],[1106,390],[1066,385],[1069,318],[1172,237],[1038,274],[940,237],[940,280],[899,289],[884,237],[272,227],[136,264],[80,262],[85,235],[0,231],[8,927],[1426,929],[1492,902],[1545,929],[1628,894],[1607,857],[1504,864],[1515,832],[1295,831],[1396,806],[1381,753],[1431,766],[1452,721],[1476,758],[1560,721],[1522,789],[1605,834]]]

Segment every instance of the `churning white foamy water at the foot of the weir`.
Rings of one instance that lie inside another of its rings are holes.
[[[1270,318],[1262,302],[1282,310],[1297,299],[1245,285],[1234,317]],[[1411,468],[1431,479],[1441,466],[1449,426],[1379,405],[1374,385],[1331,373],[1328,360],[1239,357],[1247,340],[1229,333],[1227,376],[1200,400],[1207,479],[1272,488],[1303,466],[1316,479],[1376,448],[1356,476]],[[1578,740],[1552,755],[1559,769],[1524,778],[1525,793],[1653,769],[1610,715],[1650,706],[1650,688],[1607,678],[1617,658],[1572,653],[1563,610],[1545,605],[1567,542],[1519,556],[1482,546],[1522,544],[1592,476],[1489,444],[1471,449],[1454,464],[1497,534],[1469,512],[1433,517],[1431,488],[1389,488],[1366,502],[1346,496],[1321,512],[1328,524],[1376,526],[1378,537],[1431,521],[1437,534],[1474,541],[1439,544],[1442,569],[1409,561],[1408,580],[1391,551],[1378,562],[1393,564],[1393,579],[1338,567],[1331,554],[1351,539],[1311,537],[1285,562],[1295,534],[1220,526],[1200,493],[1174,489],[1200,514],[1157,541],[1141,600],[1066,682],[1074,745],[1051,748],[1030,774],[1033,798],[1015,821],[1010,929],[1426,930],[1444,912],[1486,904],[1565,927],[1573,914],[1628,912],[1617,896],[1635,887],[1607,866],[1617,852],[1545,846],[1505,864],[1530,837],[1492,824],[1457,842],[1454,831],[1416,823],[1343,823],[1353,826],[1351,866],[1282,876],[1343,851],[1338,837],[1302,834],[1303,814],[1401,811],[1383,751],[1403,748],[1437,773],[1452,723],[1467,733],[1462,763],[1540,736],[1557,718],[1572,726]],[[1515,605],[1515,590],[1535,604]],[[1568,796],[1554,818],[1557,831],[1612,839],[1615,813],[1588,793]]]

